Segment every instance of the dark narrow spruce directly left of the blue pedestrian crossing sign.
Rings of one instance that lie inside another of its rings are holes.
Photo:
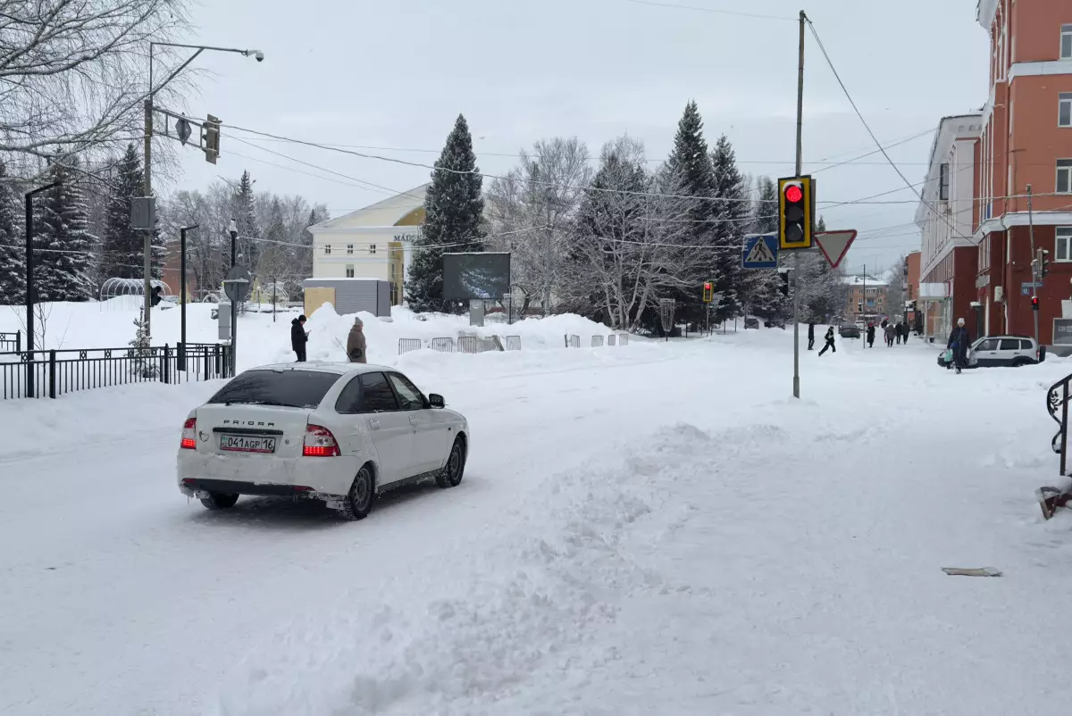
[[[749,206],[744,177],[736,165],[736,153],[724,134],[712,152],[714,165],[714,187],[712,196],[716,199],[715,218],[715,293],[723,295],[715,316],[719,320],[741,314],[741,283],[744,281],[741,267],[743,235],[748,221]]]

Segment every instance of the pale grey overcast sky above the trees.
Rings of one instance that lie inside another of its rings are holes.
[[[556,135],[578,136],[598,155],[628,133],[650,158],[664,159],[695,99],[709,143],[726,133],[744,171],[792,175],[800,3],[665,1],[691,9],[631,0],[202,0],[189,42],[256,48],[266,59],[202,55],[195,66],[207,76],[188,106],[236,126],[426,164],[464,113],[481,170],[501,174],[521,147]],[[804,9],[879,139],[922,134],[890,149],[920,182],[939,119],[986,101],[987,36],[974,0],[808,0]],[[881,154],[830,166],[876,147],[810,33],[806,51],[804,168],[816,176],[820,213],[832,229],[860,230],[850,271],[889,267],[919,248],[914,195]],[[179,187],[249,169],[258,190],[301,194],[337,217],[388,195],[360,181],[401,192],[429,177],[426,168],[242,133],[226,133],[221,154],[212,166],[187,149]],[[822,209],[891,190],[899,191],[875,200],[903,204]]]

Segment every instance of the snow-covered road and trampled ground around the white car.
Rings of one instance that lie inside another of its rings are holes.
[[[789,341],[405,356],[470,418],[465,481],[356,524],[188,506],[215,386],[0,405],[0,712],[1064,713],[1072,518],[1031,490],[1072,362],[843,342],[794,402]]]

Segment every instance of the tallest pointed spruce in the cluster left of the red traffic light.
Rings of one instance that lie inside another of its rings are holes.
[[[678,122],[678,134],[674,136],[673,151],[667,159],[667,169],[675,175],[676,183],[685,196],[708,197],[714,189],[714,165],[708,151],[708,141],[703,138],[703,118],[695,101],[685,105],[685,111]],[[689,200],[687,219],[689,232],[685,235],[687,243],[696,247],[711,247],[715,242],[712,222],[717,214],[713,202],[703,198]],[[711,251],[700,253],[703,258],[693,266],[683,266],[682,270],[689,275],[688,283],[695,287],[678,292],[675,298],[681,308],[679,315],[686,320],[698,320],[703,315],[699,286],[704,281],[717,279],[716,255]]]

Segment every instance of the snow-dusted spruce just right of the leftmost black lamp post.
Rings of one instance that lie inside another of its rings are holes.
[[[50,175],[51,181],[61,183],[36,199],[35,295],[42,301],[86,301],[95,293],[90,271],[99,241],[89,233],[86,200],[75,173],[54,164]]]

